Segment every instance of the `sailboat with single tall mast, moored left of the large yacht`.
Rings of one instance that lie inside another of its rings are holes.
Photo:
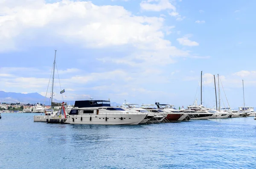
[[[62,103],[54,103],[52,102],[53,97],[53,85],[54,85],[54,74],[55,74],[55,63],[56,63],[56,50],[55,50],[55,56],[54,56],[54,62],[53,62],[53,75],[52,75],[52,92],[51,92],[51,111],[47,112],[45,111],[45,115],[38,115],[34,116],[34,122],[47,122],[47,123],[64,123],[66,118],[65,108],[64,105],[66,105],[64,102]],[[65,90],[61,91],[61,94],[65,92]],[[58,111],[53,111],[54,106],[61,106]]]

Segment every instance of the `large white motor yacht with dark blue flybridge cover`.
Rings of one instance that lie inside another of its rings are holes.
[[[146,117],[145,113],[128,112],[120,107],[111,107],[107,100],[79,100],[71,109],[65,123],[137,125]]]

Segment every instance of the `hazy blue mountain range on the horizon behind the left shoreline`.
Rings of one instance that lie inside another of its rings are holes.
[[[42,103],[45,105],[50,104],[50,98],[40,95],[39,93],[15,93],[15,92],[4,92],[0,91],[0,102],[1,103],[23,103],[23,104],[35,104]],[[53,99],[53,102],[61,103],[62,101]],[[75,104],[75,100],[64,100],[68,104]],[[111,106],[120,106],[119,103],[113,102]]]

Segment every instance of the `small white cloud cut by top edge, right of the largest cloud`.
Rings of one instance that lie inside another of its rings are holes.
[[[144,11],[162,11],[166,9],[176,11],[175,6],[173,6],[169,0],[143,0],[140,3],[140,8]]]

